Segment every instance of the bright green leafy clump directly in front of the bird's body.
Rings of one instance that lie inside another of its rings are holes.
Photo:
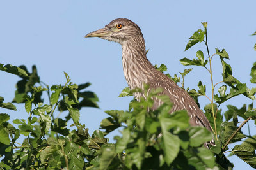
[[[212,139],[211,132],[203,127],[189,127],[189,117],[184,110],[168,114],[170,101],[158,92],[161,90],[151,91],[147,99],[134,102],[132,111],[106,111],[111,116],[107,120],[111,120],[113,129],[106,125],[102,129],[107,127],[106,131],[109,132],[114,131],[118,124],[125,125],[122,136],[115,136],[115,146],[103,150],[99,169],[205,169],[217,166],[213,154],[199,147]],[[143,93],[147,95],[147,88]],[[148,111],[154,103],[153,96],[166,103],[157,110]],[[186,131],[188,128],[189,131]],[[196,139],[198,135],[199,140]],[[205,158],[205,155],[208,157]],[[184,158],[189,160],[181,164]],[[202,163],[198,165],[198,162]],[[110,165],[115,168],[110,168]]]

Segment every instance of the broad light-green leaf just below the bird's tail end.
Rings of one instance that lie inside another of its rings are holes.
[[[207,141],[212,140],[212,134],[205,127],[191,127],[189,129],[190,145],[198,147]]]

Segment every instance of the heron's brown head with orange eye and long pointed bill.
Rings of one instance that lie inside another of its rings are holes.
[[[104,28],[90,32],[85,37],[99,37],[122,45],[124,41],[129,41],[139,36],[143,38],[143,34],[137,24],[126,18],[118,18],[111,21]]]

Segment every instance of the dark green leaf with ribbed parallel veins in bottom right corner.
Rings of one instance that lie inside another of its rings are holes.
[[[249,164],[251,167],[256,168],[256,155],[255,155],[255,150],[251,148],[250,146],[246,145],[236,145],[232,149],[232,153],[235,153],[237,157],[241,158]]]

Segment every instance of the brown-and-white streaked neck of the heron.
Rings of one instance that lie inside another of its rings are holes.
[[[145,41],[140,36],[122,43],[122,61],[125,79],[131,89],[143,89],[144,83],[152,78],[154,66],[148,61]]]

